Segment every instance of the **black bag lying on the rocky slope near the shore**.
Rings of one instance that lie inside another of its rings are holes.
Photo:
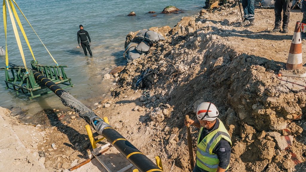
[[[140,77],[138,77],[136,82],[136,87],[140,88],[152,88],[155,84],[155,79],[157,78],[157,69],[147,68],[144,70]]]

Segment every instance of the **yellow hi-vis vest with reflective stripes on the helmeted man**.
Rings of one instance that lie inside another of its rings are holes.
[[[218,119],[219,120],[219,119]],[[198,145],[196,151],[196,165],[200,168],[209,171],[215,172],[219,166],[219,159],[218,156],[212,151],[214,150],[216,144],[223,138],[227,140],[230,145],[232,146],[232,141],[230,138],[229,133],[227,132],[226,128],[224,127],[223,123],[219,120],[219,127],[215,129],[211,133],[208,133],[207,136],[200,141],[200,136],[203,131],[203,127],[200,129],[199,137],[198,137]],[[226,170],[229,168],[227,166]]]

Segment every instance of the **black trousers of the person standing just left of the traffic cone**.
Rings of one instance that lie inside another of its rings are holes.
[[[281,27],[282,11],[283,11],[283,26],[282,28],[288,28],[290,9],[292,6],[292,0],[275,0],[274,12],[275,12],[275,28]]]

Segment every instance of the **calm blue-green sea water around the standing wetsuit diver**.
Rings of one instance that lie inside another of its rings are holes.
[[[16,0],[17,4],[28,18],[33,28],[43,40],[50,53],[60,65],[67,65],[65,72],[72,79],[73,88],[67,88],[76,99],[86,105],[92,105],[110,96],[108,91],[114,80],[103,80],[104,74],[118,65],[125,65],[125,36],[130,31],[150,27],[173,27],[181,17],[193,16],[200,11],[197,6],[204,6],[200,0]],[[166,6],[176,6],[184,13],[161,14]],[[127,16],[135,11],[136,16]],[[156,17],[148,11],[156,11]],[[20,13],[19,17],[27,33],[36,60],[43,65],[54,65],[49,54],[39,39],[26,23]],[[0,46],[5,46],[3,29],[3,14],[0,14]],[[22,65],[20,52],[14,37],[9,17],[8,22],[8,53],[9,62]],[[17,24],[17,23],[16,23]],[[76,32],[79,25],[89,32],[93,57],[84,56],[82,48],[76,48]],[[22,36],[21,32],[19,32]],[[32,55],[22,40],[23,49],[30,67]],[[5,57],[0,56],[0,67],[5,67]],[[0,71],[0,106],[20,107],[35,114],[44,108],[64,107],[55,94],[48,94],[29,100],[25,96],[5,90],[4,71]]]

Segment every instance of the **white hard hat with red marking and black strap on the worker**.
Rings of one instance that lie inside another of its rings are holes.
[[[210,102],[199,104],[196,110],[196,117],[198,120],[213,121],[219,116],[217,107]]]

